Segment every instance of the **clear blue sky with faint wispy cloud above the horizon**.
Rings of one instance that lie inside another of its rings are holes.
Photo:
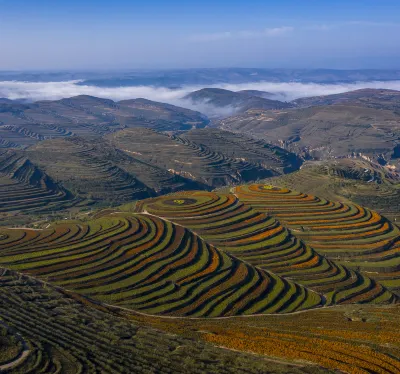
[[[400,68],[399,0],[0,0],[0,69]]]

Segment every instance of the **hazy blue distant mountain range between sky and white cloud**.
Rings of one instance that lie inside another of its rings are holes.
[[[215,68],[126,71],[0,72],[0,80],[61,82],[82,80],[80,84],[100,87],[213,85],[249,82],[316,82],[400,80],[400,70],[261,69]]]

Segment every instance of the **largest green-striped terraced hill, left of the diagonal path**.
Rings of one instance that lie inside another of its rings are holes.
[[[145,214],[109,214],[45,230],[1,229],[0,263],[106,304],[192,317],[289,313],[317,293],[254,267],[188,229]]]

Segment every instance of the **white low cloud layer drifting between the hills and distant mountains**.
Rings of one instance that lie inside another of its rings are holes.
[[[229,115],[232,108],[213,108],[207,103],[193,104],[183,99],[185,95],[204,86],[183,86],[178,89],[153,86],[131,87],[96,87],[78,84],[80,81],[67,82],[0,82],[0,98],[12,100],[26,99],[29,101],[57,100],[77,95],[91,95],[109,98],[115,101],[146,98],[149,100],[170,103],[194,110],[198,110],[210,116]],[[274,83],[258,82],[243,84],[220,84],[210,87],[224,88],[232,91],[260,90],[272,93],[272,98],[282,101],[291,101],[300,97],[337,94],[361,88],[386,88],[400,90],[400,81],[390,82],[356,82],[351,84],[318,84],[318,83]]]

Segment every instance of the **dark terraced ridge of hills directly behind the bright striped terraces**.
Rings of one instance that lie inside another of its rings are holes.
[[[255,181],[301,165],[281,148],[217,129],[179,137],[138,127],[95,139],[43,139],[0,154],[0,221],[13,217],[15,224],[89,205]]]

